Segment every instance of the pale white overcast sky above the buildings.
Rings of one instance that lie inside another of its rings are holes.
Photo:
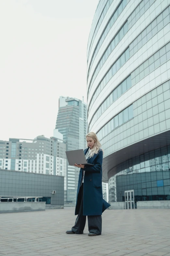
[[[58,98],[87,100],[98,0],[0,0],[0,140],[53,136]]]

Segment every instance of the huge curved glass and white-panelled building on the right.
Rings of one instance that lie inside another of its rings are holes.
[[[170,1],[100,0],[87,61],[109,201],[170,200]]]

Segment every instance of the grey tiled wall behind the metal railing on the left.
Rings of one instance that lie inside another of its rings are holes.
[[[56,190],[56,194],[51,194]],[[0,196],[51,197],[51,205],[64,205],[64,177],[0,170]]]

